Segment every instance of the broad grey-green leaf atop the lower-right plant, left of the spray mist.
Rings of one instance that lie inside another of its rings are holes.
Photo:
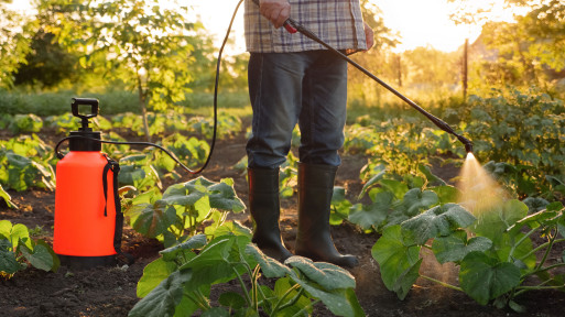
[[[457,204],[436,206],[416,217],[402,222],[402,232],[411,237],[417,244],[428,239],[448,236],[455,229],[466,228],[476,218]]]

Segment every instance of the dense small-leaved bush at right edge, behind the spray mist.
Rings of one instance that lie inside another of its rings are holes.
[[[523,189],[519,193],[530,195],[534,189],[532,181],[542,184],[544,174],[564,174],[562,100],[544,94],[493,90],[488,98],[469,97],[469,103],[463,118],[468,122],[465,130],[472,135],[478,158],[511,163],[519,168],[514,173],[529,174],[530,179],[518,184]],[[525,171],[522,165],[533,168]]]

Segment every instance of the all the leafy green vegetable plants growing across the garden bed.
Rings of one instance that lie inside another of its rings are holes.
[[[467,107],[443,112],[474,141],[479,161],[488,162],[483,168],[508,197],[491,210],[470,212],[460,204],[453,179],[441,179],[431,170],[432,162],[460,166],[465,151],[459,144],[417,117],[366,116],[346,128],[343,152],[367,158],[359,175],[363,187],[360,193],[335,187],[332,225],[346,221],[362,234],[379,237],[371,255],[385,287],[401,299],[419,278],[464,292],[480,305],[517,311],[524,309],[520,296],[526,292],[565,291],[563,101],[533,91],[497,90],[491,97],[471,96]],[[203,163],[209,151],[209,120],[167,113],[149,119],[162,146],[191,167]],[[0,196],[6,208],[18,208],[11,193],[55,189],[53,134],[64,136],[78,124],[70,114],[0,119],[0,129],[7,131],[0,141]],[[240,118],[220,114],[219,138],[242,129]],[[111,120],[98,117],[95,130],[111,131],[104,138],[115,141],[124,140],[118,133],[122,131],[143,134],[141,118],[133,113]],[[296,131],[293,139],[298,138]],[[357,299],[350,272],[300,256],[282,264],[251,244],[250,229],[227,220],[229,212],[246,209],[232,179],[197,177],[183,183],[174,162],[160,151],[107,144],[102,151],[120,162],[121,204],[129,226],[164,247],[144,269],[137,288],[141,299],[130,316],[303,316],[315,305],[338,316],[368,313]],[[245,157],[232,168],[245,173]],[[283,198],[293,196],[295,177],[296,157],[290,154],[281,168]],[[0,220],[3,278],[18,278],[18,272],[30,265],[58,269],[50,244],[32,239],[30,230]],[[425,272],[422,263],[428,255],[459,267],[458,284]],[[261,276],[270,283],[262,283]],[[211,285],[224,283],[236,283],[240,291],[210,300]]]

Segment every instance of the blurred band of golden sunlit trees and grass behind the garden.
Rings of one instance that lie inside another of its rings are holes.
[[[171,109],[211,113],[218,47],[199,21],[187,18],[193,17],[187,14],[191,7],[32,0],[34,14],[22,17],[10,2],[0,0],[0,113],[62,114],[73,96],[98,98],[102,114]],[[450,2],[459,4],[454,21],[483,25],[478,39],[460,39],[460,48],[450,53],[433,47],[396,53],[402,39],[387,28],[378,4],[361,0],[365,19],[376,31],[376,47],[354,59],[439,116],[447,108],[466,107],[470,95],[489,96],[492,88],[533,87],[563,99],[563,1],[506,0],[509,8],[528,9],[514,23],[481,20],[480,11],[465,6],[470,0]],[[245,52],[225,58],[220,107],[249,108],[247,58]],[[368,111],[419,116],[405,112],[402,101],[355,69],[349,83],[351,120]]]

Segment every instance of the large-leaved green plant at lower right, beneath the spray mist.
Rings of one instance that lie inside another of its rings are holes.
[[[384,285],[401,299],[416,278],[423,277],[465,292],[481,305],[492,302],[498,307],[508,305],[520,310],[514,298],[524,292],[565,289],[564,274],[552,271],[564,264],[546,265],[552,247],[565,242],[565,239],[557,239],[558,234],[565,237],[565,227],[561,227],[565,223],[564,212],[563,205],[555,203],[526,216],[528,206],[519,200],[507,200],[476,218],[455,204],[436,206],[400,225],[385,227],[372,255],[380,265]],[[534,249],[530,238],[534,233],[546,238],[547,242]],[[421,248],[431,249],[439,263],[459,265],[460,286],[421,273]],[[542,282],[524,286],[534,275]]]

